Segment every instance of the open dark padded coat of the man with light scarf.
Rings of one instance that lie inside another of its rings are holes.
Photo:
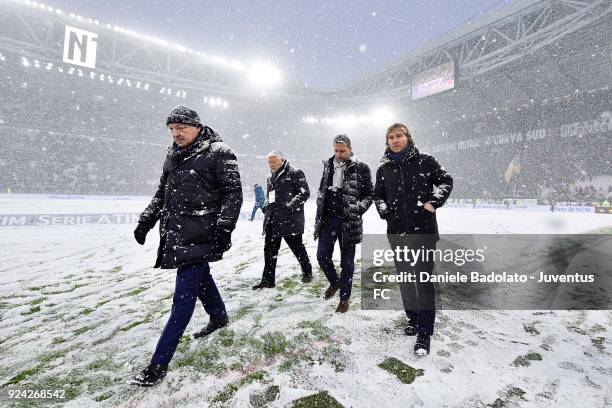
[[[325,198],[329,192],[329,180],[334,173],[334,157],[323,162],[323,176],[317,194],[317,217],[314,239],[319,237],[325,213]],[[346,162],[342,181],[342,242],[358,244],[363,239],[362,215],[372,205],[374,186],[370,168],[355,156]]]

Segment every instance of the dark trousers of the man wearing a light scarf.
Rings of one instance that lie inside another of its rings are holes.
[[[336,239],[340,243],[340,277],[332,261]],[[327,217],[321,223],[317,261],[330,285],[340,287],[340,300],[349,300],[355,272],[355,244],[343,245],[342,220]]]

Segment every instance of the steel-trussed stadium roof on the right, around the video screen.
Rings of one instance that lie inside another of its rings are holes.
[[[415,74],[448,61],[455,63],[459,81],[469,80],[602,21],[611,13],[610,0],[519,0],[332,93],[352,101],[406,97]]]

